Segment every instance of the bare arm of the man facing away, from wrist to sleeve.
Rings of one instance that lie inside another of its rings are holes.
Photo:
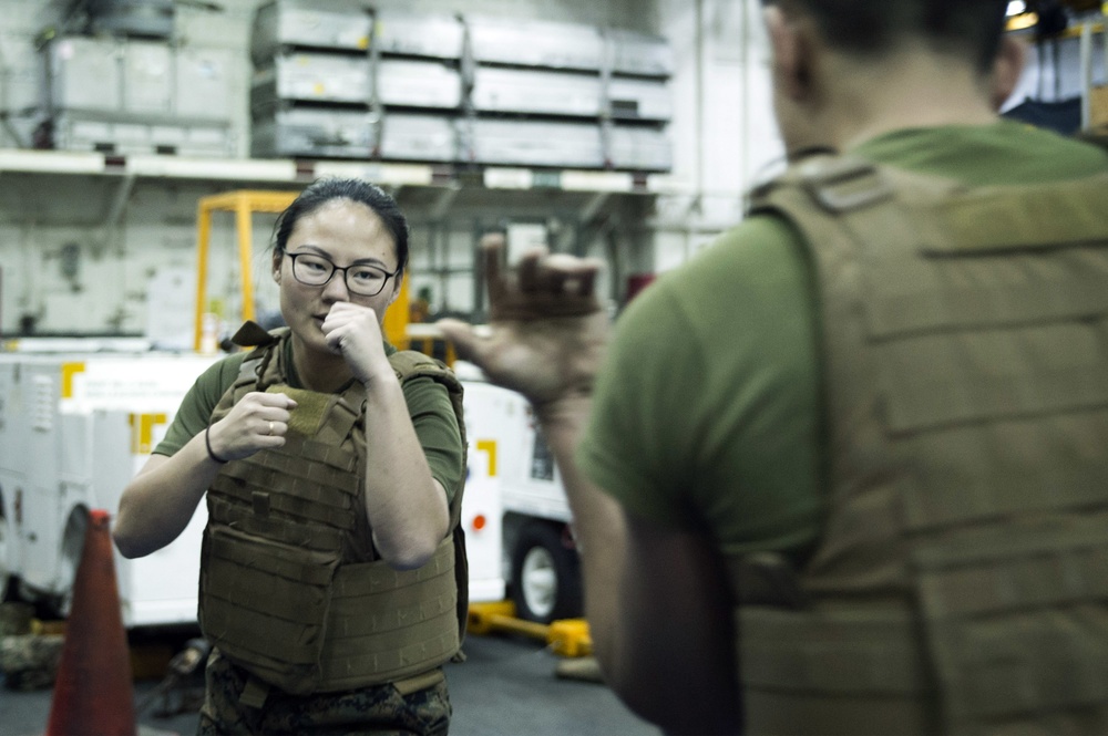
[[[562,400],[536,413],[573,511],[585,614],[605,682],[669,733],[738,733],[731,609],[718,559],[695,532],[629,518],[584,476],[573,452],[589,404]]]

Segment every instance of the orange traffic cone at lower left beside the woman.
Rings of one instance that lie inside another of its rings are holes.
[[[89,512],[47,736],[134,736],[134,681],[107,511]]]

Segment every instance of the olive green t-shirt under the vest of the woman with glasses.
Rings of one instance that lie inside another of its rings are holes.
[[[286,350],[289,350],[289,341],[284,344]],[[397,349],[386,343],[384,352],[391,355]],[[196,383],[182,400],[165,433],[165,438],[154,448],[154,453],[173,455],[207,427],[212,412],[238,379],[239,367],[247,354],[248,351],[228,355],[211,365],[196,379]],[[286,360],[284,364],[289,366],[289,375],[286,376],[288,385],[302,388],[299,376],[293,367],[293,361]],[[448,499],[453,500],[465,468],[462,467],[462,439],[450,403],[450,394],[445,386],[428,376],[404,381],[403,392],[412,426],[416,427],[416,436],[431,467],[431,476],[447,489]],[[372,442],[372,438],[367,437],[367,440]]]

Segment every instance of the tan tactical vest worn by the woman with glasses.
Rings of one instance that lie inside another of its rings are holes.
[[[202,629],[227,659],[288,693],[410,680],[459,652],[469,583],[462,488],[451,502],[452,533],[427,564],[399,571],[376,559],[363,497],[373,440],[365,435],[365,390],[357,382],[342,394],[289,388],[287,334],[275,331],[247,355],[212,415],[218,421],[252,391],[279,390],[298,403],[284,447],[227,463],[208,490]],[[430,376],[447,386],[464,448],[453,373],[411,351],[389,361],[401,382]]]

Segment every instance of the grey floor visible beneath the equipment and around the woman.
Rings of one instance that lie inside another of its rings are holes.
[[[469,635],[469,657],[448,665],[454,718],[452,736],[658,736],[630,714],[604,685],[555,675],[561,657],[533,640]],[[142,702],[160,681],[135,685]],[[52,691],[0,690],[0,736],[40,736],[50,715]],[[179,699],[172,699],[175,708]],[[195,733],[197,716],[186,711],[158,717],[155,701],[138,715],[140,736]]]

